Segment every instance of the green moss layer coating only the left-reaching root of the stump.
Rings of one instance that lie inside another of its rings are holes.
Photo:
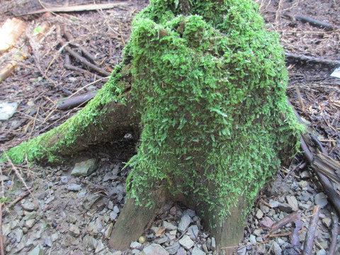
[[[25,159],[28,162],[35,160],[58,162],[62,160],[62,155],[72,151],[74,142],[79,137],[84,137],[84,140],[87,139],[90,143],[95,140],[96,132],[109,130],[110,127],[102,125],[102,120],[107,114],[105,106],[111,101],[125,103],[125,97],[123,96],[125,88],[124,84],[120,83],[122,78],[120,71],[124,66],[125,64],[120,64],[115,67],[108,82],[77,115],[72,116],[59,127],[45,132],[28,142],[23,142],[17,147],[13,147],[6,152],[8,157],[15,164],[24,162]],[[94,123],[97,130],[89,130],[88,127],[90,125],[94,126]],[[0,160],[6,161],[6,155],[3,154]]]

